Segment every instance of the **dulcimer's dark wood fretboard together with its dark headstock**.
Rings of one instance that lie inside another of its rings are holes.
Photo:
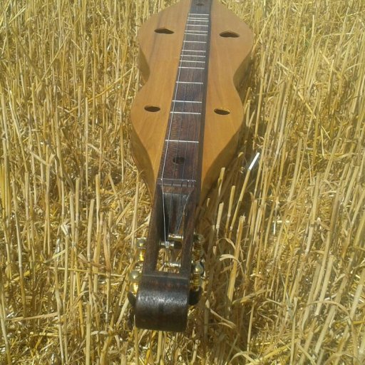
[[[202,175],[210,10],[211,0],[193,0],[185,20],[155,184],[145,262],[135,299],[135,324],[145,329],[183,331],[189,304],[200,296],[200,292],[190,289],[190,281],[195,209]],[[165,37],[173,34],[166,28],[158,31]],[[150,106],[148,111],[156,113],[157,108]],[[176,242],[175,237],[181,239]],[[162,250],[169,251],[165,255],[174,257],[172,271],[164,265],[158,267],[161,243],[165,247]],[[171,244],[174,248],[166,249]]]

